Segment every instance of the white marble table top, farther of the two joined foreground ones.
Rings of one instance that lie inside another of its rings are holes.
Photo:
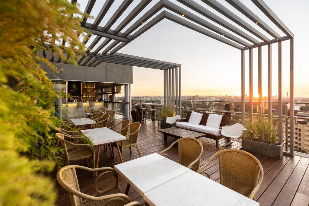
[[[133,159],[114,166],[140,195],[190,171],[189,168],[157,153]]]

